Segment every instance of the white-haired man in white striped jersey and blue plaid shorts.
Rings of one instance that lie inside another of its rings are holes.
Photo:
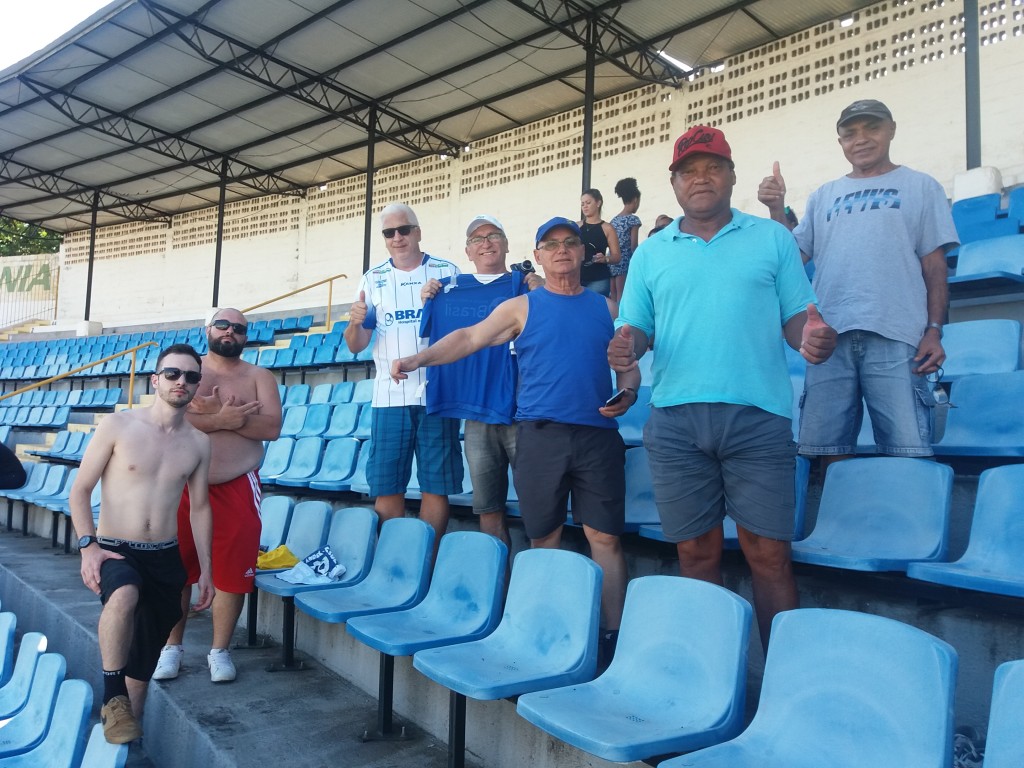
[[[434,529],[436,551],[447,528],[447,497],[462,490],[459,420],[427,414],[423,371],[403,386],[391,380],[390,371],[392,360],[427,346],[419,334],[424,284],[458,274],[459,268],[420,250],[420,222],[409,206],[385,207],[381,228],[390,258],[362,275],[345,329],[345,343],[353,352],[366,349],[377,332],[367,480],[371,496],[377,498],[374,507],[380,519],[401,517],[416,456],[423,493],[420,517]]]

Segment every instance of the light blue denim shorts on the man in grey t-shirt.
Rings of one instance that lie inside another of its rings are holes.
[[[868,331],[840,334],[833,355],[808,366],[800,400],[800,453],[842,456],[857,449],[864,406],[880,454],[932,456],[935,397],[913,373],[918,350]]]

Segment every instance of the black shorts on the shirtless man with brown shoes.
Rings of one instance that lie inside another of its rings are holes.
[[[134,549],[130,542],[99,546],[125,558],[103,560],[100,566],[99,598],[103,604],[115,590],[128,585],[138,587],[135,634],[125,675],[135,680],[148,680],[157,669],[167,636],[181,621],[181,591],[186,580],[181,555],[177,545],[152,551]]]

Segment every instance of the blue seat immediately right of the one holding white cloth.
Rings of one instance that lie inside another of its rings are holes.
[[[433,553],[434,529],[426,522],[415,517],[385,520],[366,579],[304,592],[295,604],[329,624],[411,608],[427,594]]]

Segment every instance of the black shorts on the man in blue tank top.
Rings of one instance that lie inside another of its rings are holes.
[[[612,536],[626,526],[626,445],[617,429],[520,422],[513,480],[529,539],[565,522],[570,493],[578,525]]]

